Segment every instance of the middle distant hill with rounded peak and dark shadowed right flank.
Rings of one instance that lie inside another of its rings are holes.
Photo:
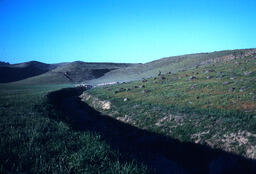
[[[127,68],[136,64],[126,63],[86,63],[75,61],[59,66],[44,74],[31,77],[17,83],[23,84],[61,84],[81,83],[95,78],[102,77],[112,70]]]

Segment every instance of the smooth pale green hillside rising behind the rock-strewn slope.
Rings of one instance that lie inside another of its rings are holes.
[[[141,80],[156,76],[159,71],[162,73],[188,70],[194,67],[200,67],[212,62],[221,61],[235,57],[243,57],[254,52],[255,49],[226,50],[216,51],[212,53],[188,54],[175,57],[167,57],[155,60],[145,64],[122,68],[106,73],[101,78],[91,80],[91,84],[99,84],[105,82],[127,82],[133,80]]]

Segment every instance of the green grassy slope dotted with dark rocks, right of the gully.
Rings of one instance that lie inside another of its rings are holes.
[[[118,120],[256,159],[255,65],[253,51],[88,93],[110,101],[111,109],[102,112]]]

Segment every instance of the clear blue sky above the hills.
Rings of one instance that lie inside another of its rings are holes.
[[[0,61],[148,62],[254,47],[255,0],[0,0]]]

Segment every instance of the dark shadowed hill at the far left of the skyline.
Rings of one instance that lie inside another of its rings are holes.
[[[45,64],[37,61],[30,61],[19,64],[1,63],[0,83],[14,82],[37,76],[55,69],[61,65],[62,64]]]

